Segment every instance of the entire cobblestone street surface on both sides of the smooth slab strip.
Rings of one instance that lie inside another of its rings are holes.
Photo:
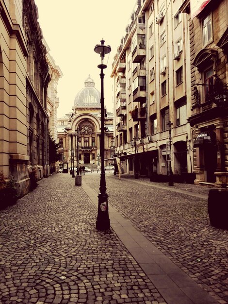
[[[75,186],[71,175],[54,174],[0,211],[0,303],[178,304],[152,283],[112,220],[109,232],[96,230],[97,206],[83,185],[98,193],[99,176],[86,173]],[[210,225],[208,188],[109,172],[106,184],[109,205],[213,299],[179,304],[228,303],[228,231]]]

